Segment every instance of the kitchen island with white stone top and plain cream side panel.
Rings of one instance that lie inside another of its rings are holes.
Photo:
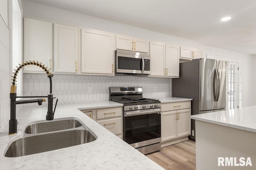
[[[196,120],[197,170],[256,169],[256,106],[191,119]]]

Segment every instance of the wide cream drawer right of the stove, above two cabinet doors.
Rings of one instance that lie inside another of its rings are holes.
[[[164,104],[161,104],[161,111],[188,109],[190,107],[191,107],[191,102],[190,101],[164,103]]]

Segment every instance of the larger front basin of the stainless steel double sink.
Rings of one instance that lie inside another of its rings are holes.
[[[18,157],[56,150],[95,141],[96,137],[88,130],[68,130],[42,135],[22,137],[14,141],[4,156]]]

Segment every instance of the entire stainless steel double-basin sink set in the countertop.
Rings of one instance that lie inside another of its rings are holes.
[[[97,136],[75,117],[36,121],[24,133],[14,137],[4,156],[18,157],[50,150],[62,149],[95,141]]]

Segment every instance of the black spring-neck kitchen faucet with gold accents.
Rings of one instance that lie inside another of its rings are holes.
[[[46,99],[33,99],[33,100],[21,100],[21,101],[16,101],[16,98],[48,98],[48,111],[47,111],[47,115],[46,115],[46,120],[53,120],[54,119],[54,112],[56,109],[56,105],[58,102],[58,99],[56,101],[55,107],[54,107],[54,111],[52,111],[52,105],[53,105],[53,95],[52,95],[52,77],[53,74],[52,72],[49,72],[49,70],[47,70],[47,67],[44,67],[44,64],[42,65],[42,63],[38,63],[35,61],[26,61],[25,63],[22,62],[22,64],[19,64],[20,66],[17,67],[17,69],[14,69],[15,72],[13,72],[13,76],[12,76],[12,85],[11,85],[11,92],[10,92],[10,120],[9,120],[9,135],[15,135],[17,133],[17,119],[16,119],[16,104],[26,104],[26,103],[38,103],[38,105],[42,105],[42,102],[45,102]],[[18,76],[18,72],[21,68],[23,68],[24,66],[27,65],[35,65],[35,66],[39,66],[40,68],[42,68],[48,78],[50,79],[50,94],[48,94],[48,96],[16,96],[16,87],[17,85],[15,84],[17,76]]]

